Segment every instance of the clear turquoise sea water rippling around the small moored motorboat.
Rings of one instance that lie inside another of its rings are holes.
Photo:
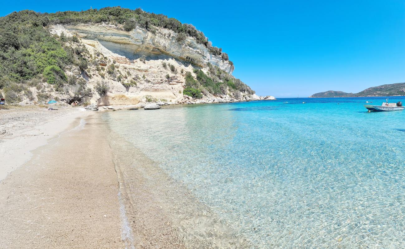
[[[405,113],[367,100],[384,98],[103,115],[258,248],[405,248]]]

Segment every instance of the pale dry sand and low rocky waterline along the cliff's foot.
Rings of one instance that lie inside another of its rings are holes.
[[[250,101],[269,101],[276,99],[261,100],[239,100],[222,102],[199,102],[199,103],[171,103],[161,106],[181,106],[198,104],[221,104]],[[151,102],[152,103],[152,102]],[[130,108],[143,109],[146,104],[123,104],[98,106],[97,112],[118,111]],[[155,103],[156,104],[156,103]],[[47,106],[48,107],[48,106]],[[32,157],[31,151],[46,145],[50,140],[60,136],[63,132],[73,126],[75,119],[93,115],[93,111],[86,111],[82,107],[72,107],[66,105],[49,105],[49,107],[59,110],[47,110],[36,105],[12,106],[10,109],[0,109],[2,119],[0,119],[0,182],[13,170],[16,170]],[[45,115],[44,115],[45,114]],[[37,117],[40,116],[40,117]],[[11,123],[9,123],[11,121]]]

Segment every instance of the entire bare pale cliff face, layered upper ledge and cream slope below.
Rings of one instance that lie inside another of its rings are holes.
[[[94,93],[90,102],[98,106],[264,99],[248,92],[235,94],[229,91],[221,96],[205,92],[204,97],[198,100],[184,96],[185,76],[188,72],[194,75],[193,70],[201,68],[209,74],[207,64],[211,63],[230,74],[233,65],[220,56],[210,54],[204,45],[196,43],[192,37],[178,41],[177,34],[171,30],[158,28],[156,34],[153,34],[136,28],[126,32],[109,24],[54,25],[48,29],[54,35],[79,38],[79,41],[68,41],[64,45],[73,49],[84,47],[86,51],[81,55],[90,63],[86,70],[70,66],[65,73],[68,77],[84,78],[86,86]],[[96,89],[100,83],[108,86],[107,93],[98,93]]]

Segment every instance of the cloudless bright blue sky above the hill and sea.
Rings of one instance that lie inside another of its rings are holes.
[[[191,23],[222,47],[233,75],[258,95],[307,97],[405,82],[404,0],[3,1],[0,16],[30,9],[122,6]]]

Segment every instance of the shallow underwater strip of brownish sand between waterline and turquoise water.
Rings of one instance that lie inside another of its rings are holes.
[[[123,225],[132,230],[132,236],[123,234],[127,236],[126,245],[165,249],[253,248],[235,224],[200,202],[184,183],[164,172],[159,162],[110,128],[108,134],[120,201],[128,219],[123,220]]]

